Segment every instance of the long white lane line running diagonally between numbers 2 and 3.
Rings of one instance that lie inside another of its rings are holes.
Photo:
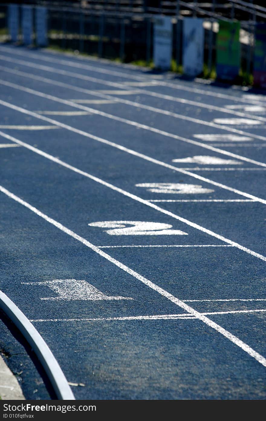
[[[164,214],[166,214],[168,216],[171,216],[172,218],[177,219],[178,221],[184,222],[184,224],[187,224],[187,225],[191,226],[192,228],[198,229],[201,232],[205,232],[205,234],[209,234],[209,235],[211,235],[211,237],[218,238],[219,240],[221,240],[223,242],[226,242],[227,244],[231,244],[231,245],[239,248],[240,250],[245,251],[245,253],[251,254],[252,256],[255,256],[255,257],[257,257],[257,258],[259,258],[259,259],[261,259],[263,261],[266,261],[266,257],[265,256],[262,256],[261,254],[256,253],[255,251],[250,250],[249,248],[246,248],[246,247],[238,244],[237,242],[234,242],[232,240],[229,240],[228,238],[226,238],[226,237],[224,237],[224,236],[222,236],[220,234],[216,234],[215,232],[211,231],[210,229],[206,229],[203,226],[200,226],[198,224],[195,224],[194,222],[191,222],[188,219],[185,219],[185,218],[182,218],[181,216],[176,215],[175,213],[169,212],[169,210],[160,208],[159,206],[154,205],[153,203],[148,202],[147,200],[142,199],[141,197],[138,197],[136,195],[132,195],[132,193],[126,192],[126,190],[120,189],[119,187],[116,187],[116,186],[114,186],[111,183],[108,183],[108,182],[106,182],[106,181],[104,181],[102,179],[99,179],[98,177],[92,176],[92,174],[89,174],[89,173],[86,173],[85,171],[79,170],[78,168],[73,167],[72,165],[69,165],[69,164],[65,163],[64,161],[61,161],[59,158],[56,158],[53,155],[49,155],[46,152],[43,152],[40,149],[37,149],[35,147],[32,147],[31,145],[28,145],[28,144],[26,144],[26,143],[24,143],[22,141],[18,141],[18,139],[13,138],[12,136],[5,135],[5,133],[2,134],[2,132],[0,132],[0,136],[1,135],[4,135],[5,137],[8,136],[8,139],[11,139],[11,140],[15,141],[16,143],[21,144],[22,146],[30,149],[32,152],[35,152],[38,155],[41,155],[41,156],[43,156],[43,157],[45,157],[45,158],[47,158],[47,159],[49,159],[49,160],[51,160],[51,161],[59,164],[59,165],[62,165],[63,167],[68,168],[71,171],[74,171],[74,172],[76,172],[78,174],[81,174],[81,175],[83,175],[83,176],[85,176],[85,177],[87,177],[87,178],[89,178],[89,179],[91,179],[93,181],[96,181],[99,184],[102,184],[103,186],[106,186],[106,187],[108,187],[108,188],[110,188],[110,189],[112,189],[112,190],[114,190],[114,191],[116,191],[118,193],[121,193],[122,195],[124,195],[126,197],[130,197],[131,199],[136,200],[139,203],[142,203],[144,205],[147,205],[150,208],[153,208],[155,210],[158,210],[161,213],[164,213]]]

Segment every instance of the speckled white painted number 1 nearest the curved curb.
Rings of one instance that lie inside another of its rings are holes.
[[[107,296],[93,285],[84,280],[76,279],[55,279],[45,282],[21,282],[24,285],[45,285],[58,297],[45,297],[41,300],[64,300],[64,301],[99,301],[99,300],[133,300],[130,297]]]

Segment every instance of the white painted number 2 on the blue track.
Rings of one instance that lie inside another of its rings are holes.
[[[109,235],[187,235],[180,229],[170,229],[173,225],[162,224],[161,222],[145,221],[101,221],[92,222],[89,226],[97,226],[108,229]],[[133,225],[126,227],[126,225]]]

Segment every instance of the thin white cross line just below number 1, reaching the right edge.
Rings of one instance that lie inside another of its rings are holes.
[[[242,314],[242,313],[263,313],[266,312],[266,309],[261,310],[232,310],[228,312],[206,312],[200,313],[204,316],[209,314]],[[99,317],[99,318],[88,318],[88,319],[33,319],[31,322],[105,322],[112,320],[177,320],[177,319],[194,319],[197,320],[197,317],[190,316],[187,313],[181,314],[158,314],[154,316],[127,316],[127,317]]]

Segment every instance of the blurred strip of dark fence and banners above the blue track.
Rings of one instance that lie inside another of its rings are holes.
[[[265,88],[263,4],[257,0],[0,1],[0,41]]]

